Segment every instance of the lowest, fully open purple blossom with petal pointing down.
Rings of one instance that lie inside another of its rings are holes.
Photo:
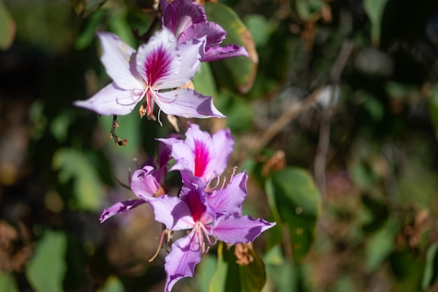
[[[166,256],[164,291],[171,291],[183,277],[193,277],[195,265],[209,250],[207,245],[213,245],[217,240],[229,244],[252,242],[260,233],[275,225],[275,222],[264,219],[241,216],[246,187],[240,187],[241,191],[236,191],[236,188],[245,185],[246,177],[246,173],[236,175],[226,188],[210,195],[202,185],[190,182],[183,185],[179,198],[164,195],[149,201],[155,220],[168,230],[188,230],[188,235],[171,245],[172,250]],[[215,196],[218,198],[214,199]]]

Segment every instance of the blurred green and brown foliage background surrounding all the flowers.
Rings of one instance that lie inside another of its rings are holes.
[[[134,198],[129,172],[175,129],[134,110],[116,146],[112,117],[72,105],[110,82],[96,31],[136,48],[153,5],[0,1],[0,291],[162,291],[150,207],[99,215]],[[215,247],[174,291],[438,291],[438,2],[220,0],[206,12],[250,58],[202,65],[195,89],[227,119],[190,122],[231,129],[227,175],[250,177],[244,212],[278,224],[249,268]],[[171,173],[171,194],[178,182]],[[221,286],[224,267],[258,284]]]

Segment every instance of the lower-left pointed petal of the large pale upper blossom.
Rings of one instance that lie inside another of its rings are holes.
[[[143,97],[143,91],[121,89],[115,83],[106,85],[85,101],[75,101],[80,108],[94,110],[99,115],[127,115]]]

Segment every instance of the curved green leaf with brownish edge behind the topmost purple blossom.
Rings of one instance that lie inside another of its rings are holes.
[[[231,8],[220,3],[206,2],[205,10],[209,21],[218,23],[227,31],[227,38],[222,44],[243,45],[250,55],[249,58],[233,57],[211,63],[220,85],[245,94],[253,86],[257,73],[258,55],[253,38]]]

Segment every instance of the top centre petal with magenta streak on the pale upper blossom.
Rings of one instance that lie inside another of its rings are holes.
[[[166,81],[178,77],[181,62],[176,54],[176,38],[169,29],[157,31],[148,43],[139,47],[136,54],[136,71],[150,87],[160,89],[184,85],[178,84],[171,87],[160,87]],[[186,82],[187,83],[187,82]]]

